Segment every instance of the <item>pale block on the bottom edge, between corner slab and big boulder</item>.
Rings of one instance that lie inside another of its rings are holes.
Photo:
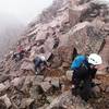
[[[29,108],[29,106],[32,105],[32,102],[34,101],[34,99],[32,98],[23,98],[21,101],[21,109],[25,109],[25,108]]]

